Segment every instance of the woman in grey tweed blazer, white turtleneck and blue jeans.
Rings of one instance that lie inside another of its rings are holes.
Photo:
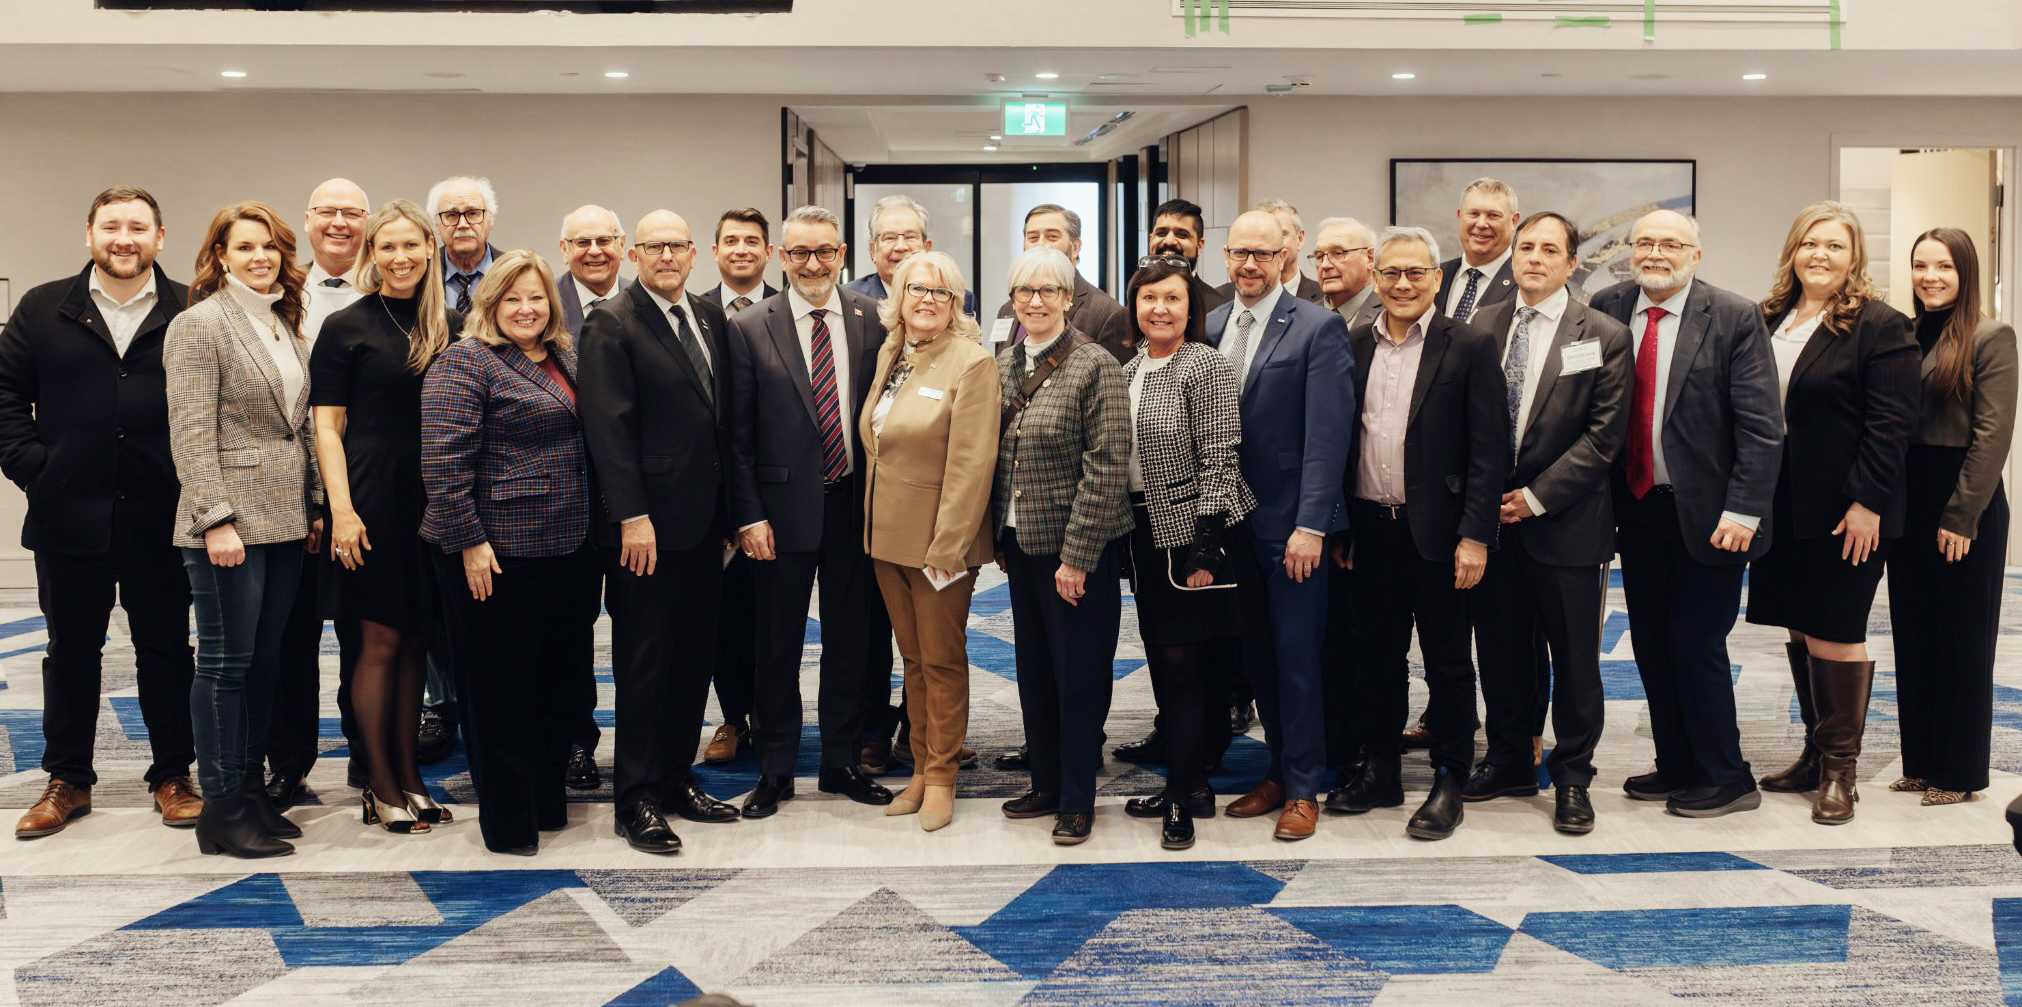
[[[190,309],[162,348],[182,481],[174,544],[196,609],[190,720],[204,853],[273,857],[301,835],[261,791],[281,627],[324,530],[301,283],[295,233],[273,208],[226,206],[196,253]]]

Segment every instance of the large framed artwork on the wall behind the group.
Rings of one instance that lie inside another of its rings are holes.
[[[1516,210],[1553,210],[1579,224],[1571,287],[1593,293],[1630,279],[1630,226],[1650,210],[1696,212],[1694,160],[1391,158],[1391,222],[1432,231],[1440,255],[1460,255],[1454,210],[1476,178],[1516,190]]]

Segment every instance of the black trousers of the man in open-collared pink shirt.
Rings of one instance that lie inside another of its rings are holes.
[[[1426,560],[1411,540],[1409,508],[1357,501],[1355,637],[1361,643],[1353,696],[1361,698],[1361,736],[1371,752],[1403,748],[1411,694],[1411,629],[1426,657],[1426,726],[1432,764],[1466,774],[1474,762],[1474,659],[1468,653],[1468,594],[1454,588],[1454,560]]]

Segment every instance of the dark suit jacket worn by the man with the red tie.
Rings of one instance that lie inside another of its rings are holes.
[[[1634,344],[1642,340],[1638,319],[1630,317],[1640,293],[1636,281],[1622,281],[1587,305],[1628,326]],[[1656,423],[1678,501],[1678,534],[1684,550],[1707,566],[1759,558],[1769,552],[1769,503],[1783,457],[1783,410],[1761,307],[1703,279],[1692,281],[1682,305],[1674,297],[1666,307],[1680,311],[1678,344]],[[1628,506],[1622,463],[1614,481],[1620,512]],[[1723,512],[1761,518],[1747,554],[1713,548]]]

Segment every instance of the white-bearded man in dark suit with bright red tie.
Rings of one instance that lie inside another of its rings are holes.
[[[1741,758],[1727,633],[1741,611],[1741,570],[1769,548],[1783,413],[1761,311],[1692,277],[1698,222],[1656,210],[1630,245],[1632,279],[1591,303],[1636,342],[1614,489],[1656,772],[1630,776],[1624,791],[1709,819],[1761,805]]]

